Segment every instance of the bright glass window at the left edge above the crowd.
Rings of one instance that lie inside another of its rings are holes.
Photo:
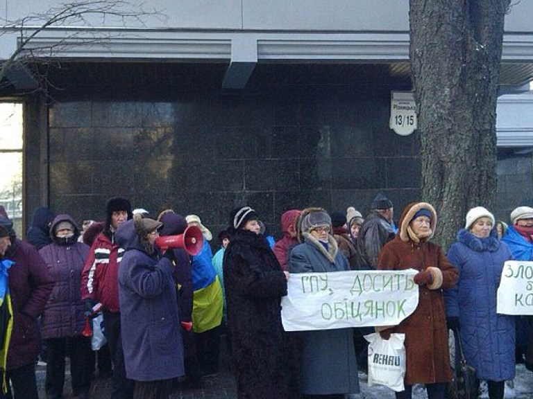
[[[0,205],[22,237],[22,104],[0,103]]]

